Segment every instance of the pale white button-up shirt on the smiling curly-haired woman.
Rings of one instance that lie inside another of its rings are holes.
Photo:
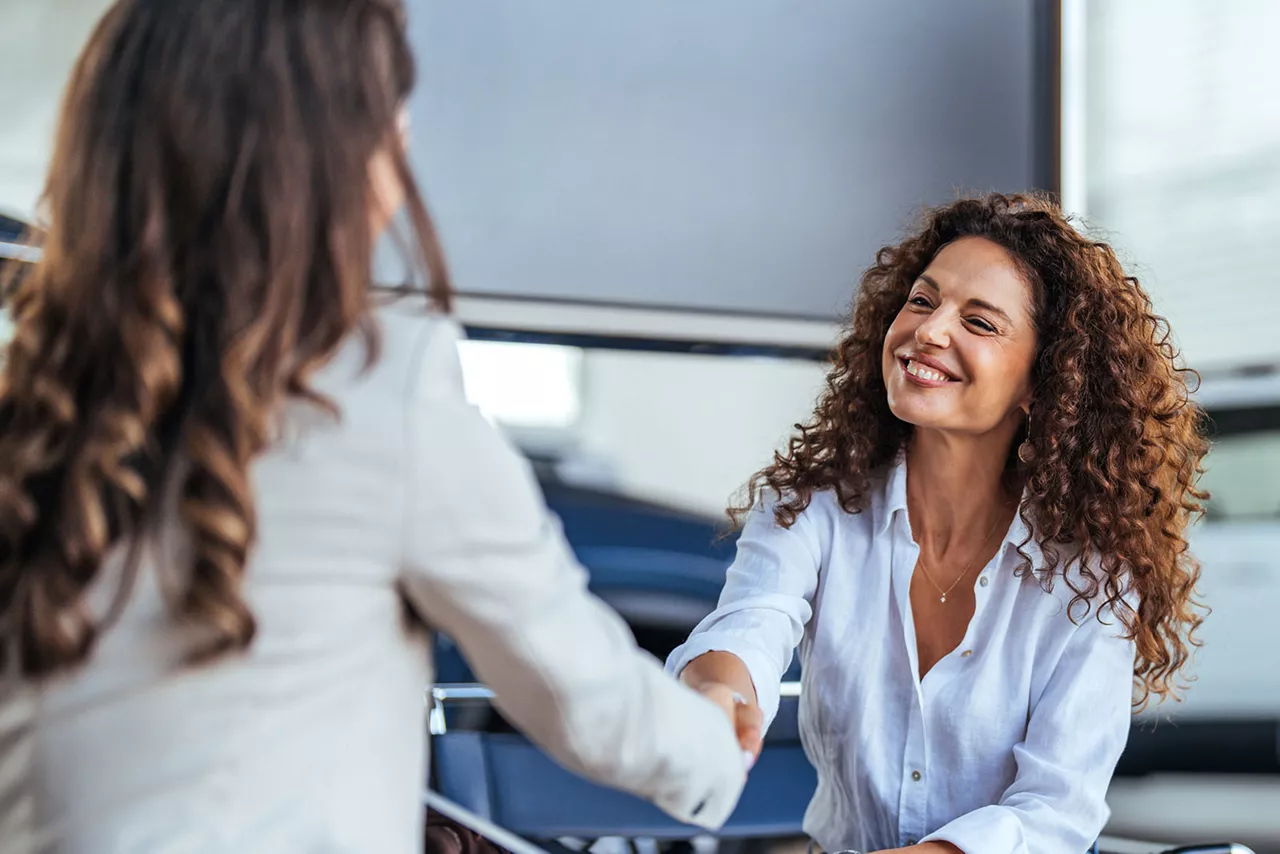
[[[883,481],[856,515],[831,492],[790,529],[754,510],[719,607],[668,670],[731,652],[772,721],[800,645],[800,736],[818,769],[805,831],[826,851],[946,840],[969,854],[1080,854],[1108,816],[1134,644],[1114,620],[1074,625],[1061,579],[1047,594],[1014,575],[1027,533],[1015,519],[974,580],[964,640],[922,681],[905,463]]]

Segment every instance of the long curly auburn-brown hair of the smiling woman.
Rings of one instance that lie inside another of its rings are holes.
[[[1185,539],[1207,498],[1196,487],[1208,442],[1202,411],[1189,399],[1194,375],[1179,365],[1167,323],[1111,247],[1078,232],[1046,197],[959,200],[879,250],[813,417],[795,425],[786,449],[751,478],[730,516],[741,524],[765,493],[777,498],[774,517],[787,528],[815,490],[833,490],[850,513],[867,507],[873,481],[911,435],[890,411],[884,335],[929,261],[969,236],[1004,247],[1032,291],[1033,403],[1012,447],[1029,437],[1034,453],[1028,463],[1010,453],[1007,474],[1025,487],[1019,512],[1044,561],[1032,566],[1021,548],[1029,538],[1019,547],[1019,574],[1034,572],[1044,589],[1065,577],[1073,620],[1082,606],[1114,608],[1137,641],[1139,708],[1152,694],[1176,695],[1203,618],[1194,598],[1199,565]],[[1073,567],[1078,576],[1068,572]],[[1130,592],[1137,609],[1125,598]]]

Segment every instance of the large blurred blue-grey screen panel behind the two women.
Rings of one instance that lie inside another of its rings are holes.
[[[957,191],[1056,188],[1034,0],[416,0],[463,294],[829,320]]]

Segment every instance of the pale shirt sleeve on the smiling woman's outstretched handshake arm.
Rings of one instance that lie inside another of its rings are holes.
[[[751,675],[768,727],[778,712],[782,675],[813,615],[820,561],[808,511],[791,528],[782,528],[772,503],[753,508],[716,611],[671,653],[668,672],[678,675],[708,652],[737,656]]]

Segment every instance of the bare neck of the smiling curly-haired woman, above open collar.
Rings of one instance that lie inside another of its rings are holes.
[[[916,430],[906,451],[906,502],[916,542],[938,556],[983,548],[1018,506],[1005,479],[1007,437]]]

